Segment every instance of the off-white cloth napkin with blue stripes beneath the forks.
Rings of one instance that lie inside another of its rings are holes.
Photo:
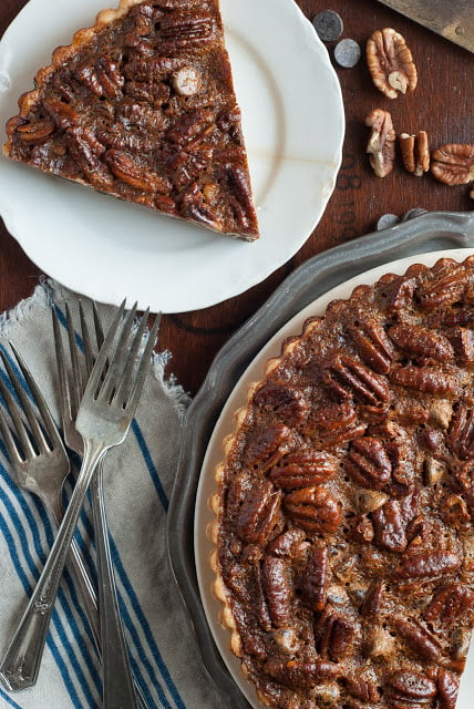
[[[58,421],[51,308],[64,323],[64,301],[71,292],[51,281],[0,316],[0,347],[11,340],[39,383]],[[114,308],[100,306],[106,326]],[[147,707],[155,709],[218,708],[221,697],[209,682],[194,645],[188,619],[172,579],[166,552],[166,512],[188,398],[164,379],[167,352],[156,356],[125,443],[105,459],[105,501],[120,605],[132,669]],[[3,376],[3,373],[0,373]],[[1,403],[1,402],[0,402]],[[71,494],[72,479],[64,486]],[[17,627],[55,534],[53,517],[41,501],[16,485],[0,440],[0,655]],[[87,500],[76,541],[92,577],[95,549]],[[0,708],[99,709],[101,664],[66,572],[52,617],[37,685],[21,692],[0,686]]]

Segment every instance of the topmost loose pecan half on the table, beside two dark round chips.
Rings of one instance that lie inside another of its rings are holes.
[[[389,99],[413,91],[418,72],[404,38],[392,28],[375,30],[367,42],[367,65],[372,81]]]

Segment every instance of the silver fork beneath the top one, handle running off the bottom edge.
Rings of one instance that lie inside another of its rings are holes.
[[[82,394],[85,389],[85,383],[94,364],[96,351],[100,350],[104,341],[104,333],[96,305],[92,301],[92,318],[95,333],[94,339],[96,342],[96,346],[94,347],[92,343],[93,338],[89,332],[83,304],[82,300],[79,300],[79,333],[83,345],[83,353],[80,352],[75,337],[73,317],[69,305],[65,304],[70,354],[69,360],[71,362],[71,367],[68,369],[59,318],[54,309],[52,312],[54,348],[61,384],[60,409],[64,441],[71,450],[82,456],[84,444],[81,434],[75,428],[75,419]],[[126,692],[131,680],[134,682],[135,692],[142,702],[142,707],[146,707],[141,687],[134,680],[130,668],[122,619],[118,609],[117,590],[105,516],[102,461],[99,463],[97,471],[91,482],[91,495],[94,532],[97,546],[104,709],[122,709],[123,707],[128,707],[128,703],[126,703]]]

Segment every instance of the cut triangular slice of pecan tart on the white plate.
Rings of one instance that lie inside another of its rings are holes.
[[[3,152],[121,199],[258,237],[217,0],[121,0],[58,48]]]

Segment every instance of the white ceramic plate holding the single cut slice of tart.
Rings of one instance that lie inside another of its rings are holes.
[[[0,43],[0,126],[37,70],[104,0],[30,0]],[[103,302],[182,312],[244,292],[285,264],[334,187],[344,117],[326,48],[295,0],[221,0],[261,237],[216,236],[0,157],[0,213],[47,274]],[[4,142],[4,130],[0,140]]]

